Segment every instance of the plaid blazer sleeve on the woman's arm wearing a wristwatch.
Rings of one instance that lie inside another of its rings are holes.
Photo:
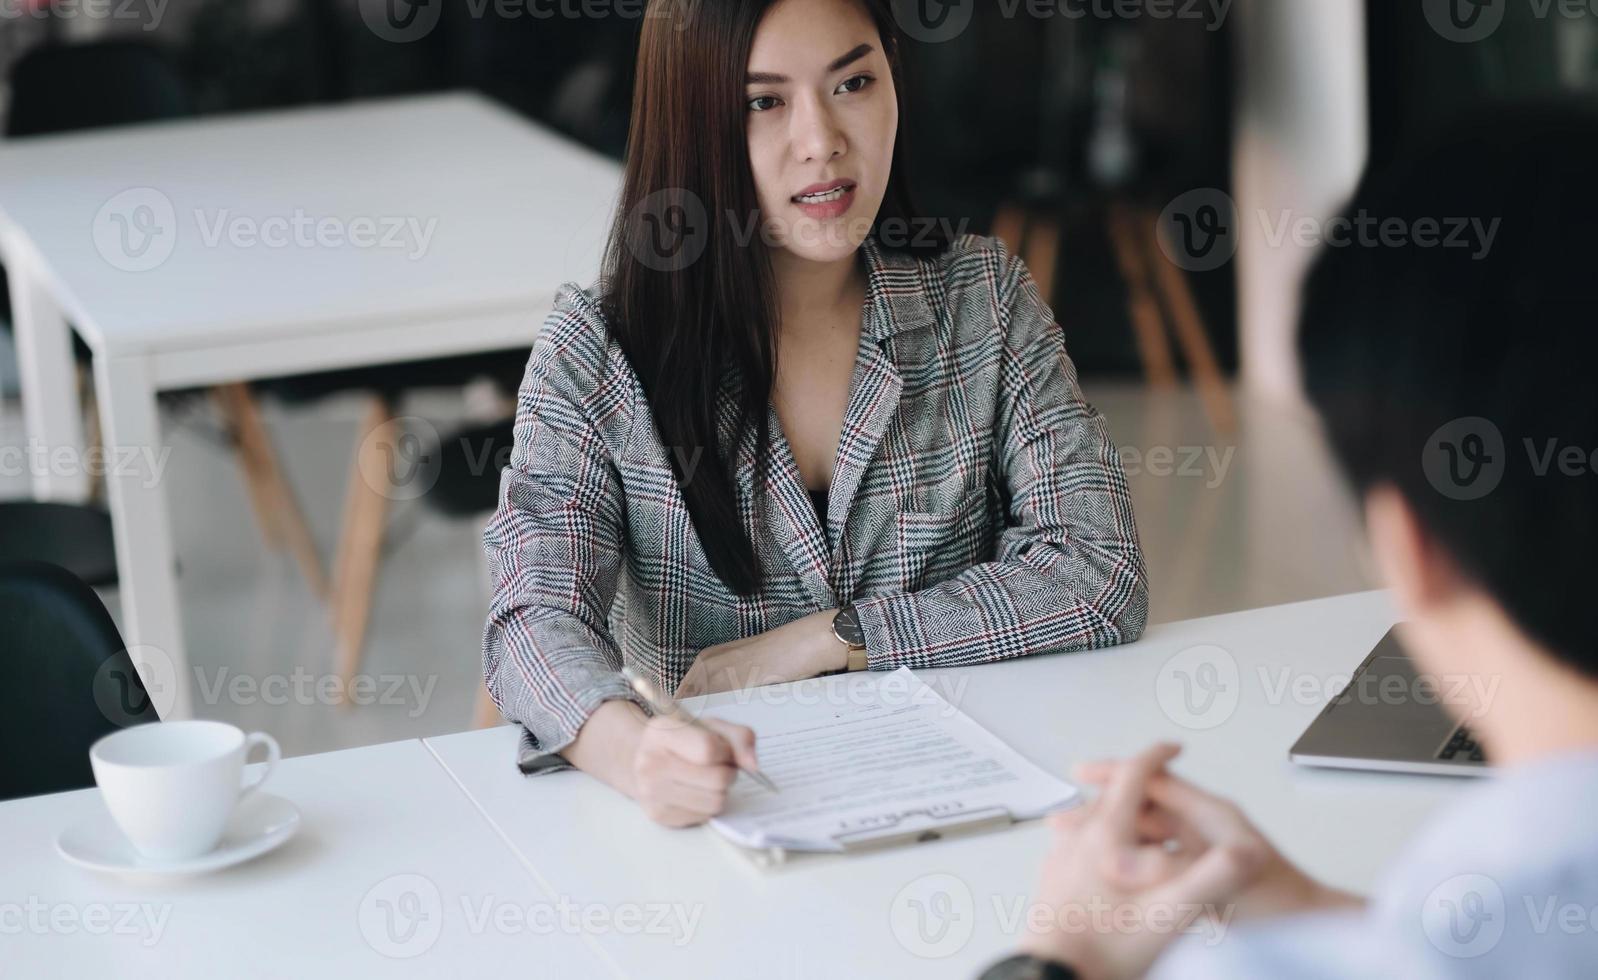
[[[873,670],[949,667],[1130,643],[1147,574],[1120,454],[1082,398],[1026,264],[999,280],[996,452],[1010,510],[992,561],[914,593],[855,600]]]

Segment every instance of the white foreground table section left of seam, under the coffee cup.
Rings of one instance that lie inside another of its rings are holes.
[[[617,975],[420,742],[284,759],[267,791],[299,806],[296,838],[192,878],[58,857],[97,790],[0,804],[0,977]]]

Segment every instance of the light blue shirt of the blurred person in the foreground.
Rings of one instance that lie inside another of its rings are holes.
[[[1159,980],[1598,977],[1598,753],[1491,777],[1430,822],[1365,911],[1184,938]]]

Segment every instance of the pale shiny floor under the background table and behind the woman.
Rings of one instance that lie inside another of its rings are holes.
[[[1095,385],[1128,465],[1152,574],[1154,622],[1369,587],[1349,500],[1307,419],[1240,404],[1240,430],[1216,438],[1189,392]],[[331,563],[363,404],[267,404],[278,451]],[[428,393],[404,411],[447,428],[459,396]],[[390,512],[388,552],[361,671],[372,703],[334,707],[328,615],[288,555],[262,550],[240,470],[208,406],[163,417],[197,713],[270,731],[289,755],[431,735],[470,724],[487,608],[476,521],[423,502]],[[19,444],[14,401],[0,446]],[[0,496],[27,492],[0,473]],[[115,614],[115,593],[107,595]]]

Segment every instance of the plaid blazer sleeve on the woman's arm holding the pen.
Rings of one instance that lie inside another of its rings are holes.
[[[499,508],[483,532],[494,579],[483,678],[505,718],[526,726],[543,753],[569,745],[602,702],[639,703],[606,622],[625,510],[585,404],[604,365],[604,328],[590,318],[558,302],[545,321],[516,398]]]

